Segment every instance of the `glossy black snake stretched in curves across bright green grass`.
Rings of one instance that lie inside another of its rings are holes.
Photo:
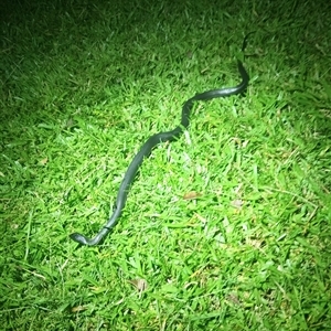
[[[242,52],[244,52],[244,50],[246,47],[246,40],[250,33],[248,33],[244,38]],[[214,98],[228,97],[231,95],[242,94],[246,89],[248,82],[249,82],[249,76],[248,76],[241,60],[237,60],[237,68],[238,68],[239,75],[242,77],[242,82],[238,85],[236,85],[234,87],[211,89],[211,90],[206,90],[206,92],[203,92],[200,94],[195,94],[193,97],[191,97],[183,104],[181,122],[178,127],[175,127],[171,131],[156,134],[147,139],[147,141],[141,146],[138,153],[134,157],[131,163],[129,164],[129,167],[124,175],[124,179],[120,183],[120,186],[119,186],[119,190],[117,193],[116,202],[115,202],[115,205],[113,209],[113,214],[109,217],[109,220],[107,221],[107,223],[102,227],[102,229],[97,233],[97,235],[94,238],[88,238],[87,236],[79,234],[79,233],[73,233],[70,235],[70,237],[73,241],[77,242],[81,245],[87,245],[87,246],[98,245],[102,242],[104,242],[105,237],[111,231],[111,228],[117,224],[118,218],[120,217],[120,215],[122,213],[122,210],[124,210],[127,199],[128,199],[130,186],[135,181],[137,172],[143,162],[143,159],[146,159],[150,156],[151,151],[153,150],[153,148],[157,145],[159,145],[161,142],[166,142],[166,141],[178,140],[178,138],[183,134],[183,131],[190,125],[190,115],[194,107],[194,103],[201,102],[201,100],[206,102],[206,100],[211,100]]]

